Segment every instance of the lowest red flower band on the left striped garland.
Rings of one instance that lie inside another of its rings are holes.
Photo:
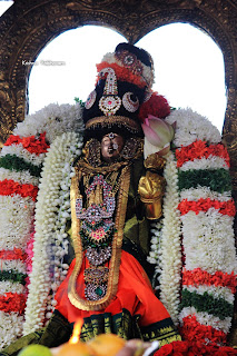
[[[26,303],[26,295],[9,291],[0,296],[0,310],[4,313],[18,312],[19,314],[23,314]]]

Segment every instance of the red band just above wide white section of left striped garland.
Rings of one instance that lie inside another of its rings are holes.
[[[0,181],[0,195],[13,196],[20,195],[21,197],[31,197],[34,201],[37,199],[38,187],[32,185],[19,185],[11,179],[4,179]]]

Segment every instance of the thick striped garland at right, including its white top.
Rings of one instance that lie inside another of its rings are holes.
[[[231,326],[237,271],[229,157],[208,120],[201,118],[203,127],[194,123],[191,129],[197,115],[190,110],[170,117],[169,122],[177,121],[174,141],[180,147],[176,158],[185,255],[181,333],[185,339],[221,345]]]

